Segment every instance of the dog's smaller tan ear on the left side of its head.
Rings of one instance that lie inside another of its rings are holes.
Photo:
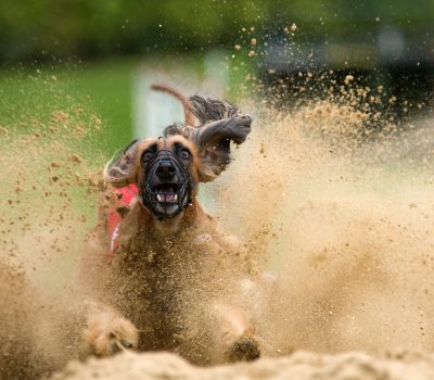
[[[140,140],[131,141],[118,151],[104,168],[104,179],[115,188],[123,188],[136,180],[136,156]]]

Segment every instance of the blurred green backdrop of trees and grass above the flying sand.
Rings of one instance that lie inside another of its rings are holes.
[[[0,125],[16,117],[13,103],[23,112],[35,102],[67,107],[79,101],[101,116],[110,152],[135,134],[139,65],[146,73],[188,66],[201,76],[215,50],[224,56],[216,67],[229,73],[225,90],[235,100],[246,74],[273,89],[299,72],[333,68],[362,74],[391,92],[406,79],[427,103],[433,25],[432,0],[3,0]],[[55,76],[64,99],[35,80],[38,73]]]

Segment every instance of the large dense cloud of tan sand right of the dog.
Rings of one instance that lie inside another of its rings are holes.
[[[263,115],[217,203],[278,276],[258,307],[269,354],[431,351],[430,123],[367,136],[369,112],[330,102]]]

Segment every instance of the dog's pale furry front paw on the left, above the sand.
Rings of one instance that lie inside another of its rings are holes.
[[[101,313],[89,318],[84,338],[86,356],[104,357],[137,349],[139,331],[123,317]]]

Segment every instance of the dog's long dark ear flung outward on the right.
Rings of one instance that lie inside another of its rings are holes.
[[[195,143],[200,159],[201,182],[214,180],[230,163],[230,141],[240,144],[251,132],[252,118],[239,115],[194,128],[191,140]]]

